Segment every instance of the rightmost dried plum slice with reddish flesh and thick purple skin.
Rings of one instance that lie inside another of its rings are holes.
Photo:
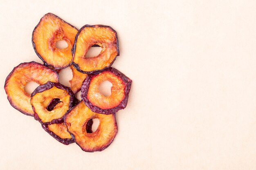
[[[108,97],[102,95],[98,89],[103,81],[112,83],[111,95]],[[81,88],[81,98],[93,112],[106,115],[116,113],[126,107],[131,85],[131,79],[110,67],[86,77]]]

